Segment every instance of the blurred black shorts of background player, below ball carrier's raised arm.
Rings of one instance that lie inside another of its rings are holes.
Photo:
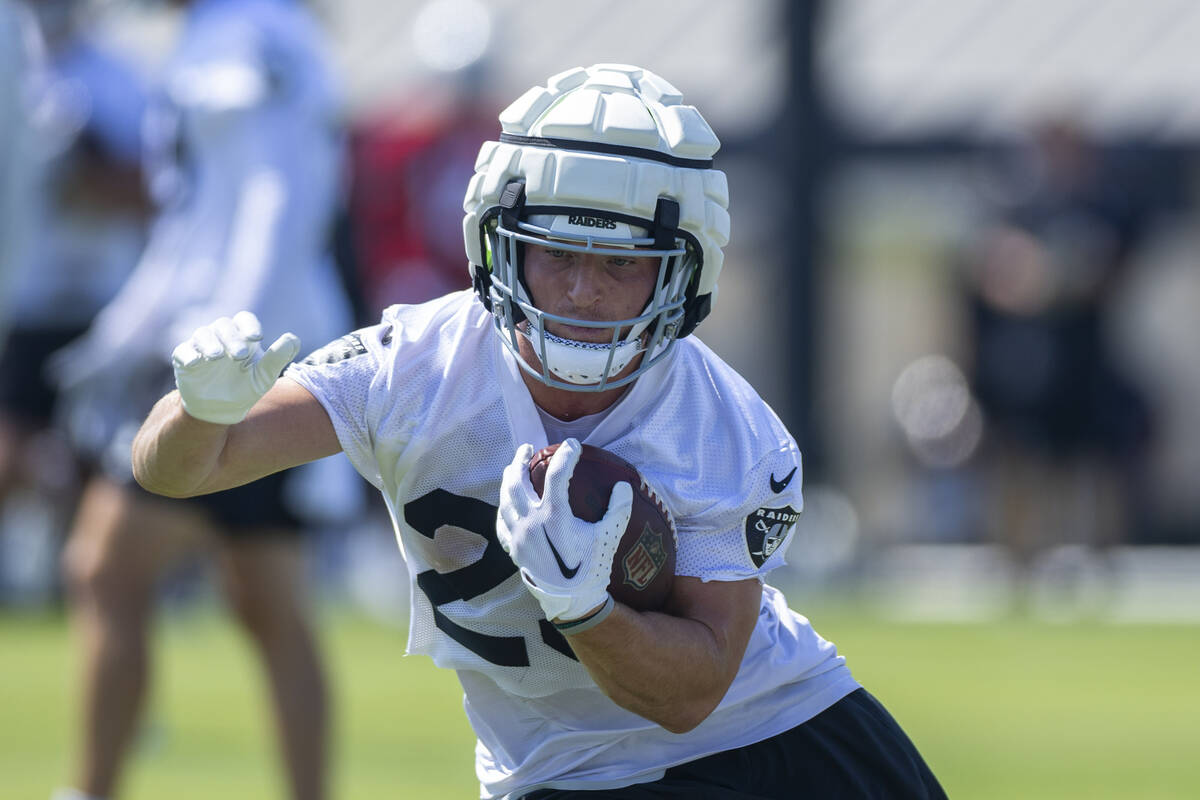
[[[292,539],[300,535],[301,523],[284,500],[283,487],[287,476],[288,471],[284,470],[245,486],[182,500],[151,494],[132,481],[128,487],[157,501],[186,503],[199,507],[226,539],[235,541],[262,536]]]

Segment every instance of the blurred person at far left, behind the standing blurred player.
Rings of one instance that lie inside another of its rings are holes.
[[[2,518],[10,536],[30,536],[41,521],[41,535],[56,539],[70,521],[78,474],[50,425],[58,392],[44,366],[116,294],[148,212],[145,90],[133,67],[89,34],[79,6],[31,4],[46,60],[30,113],[38,178],[22,201],[37,223],[6,293],[11,329],[0,345],[0,505],[12,500]]]

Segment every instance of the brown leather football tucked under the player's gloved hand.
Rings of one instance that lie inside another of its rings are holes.
[[[538,497],[556,450],[557,444],[542,447],[529,462],[529,480]],[[636,610],[660,610],[674,581],[676,529],[671,515],[637,468],[607,450],[583,445],[566,497],[576,517],[599,522],[608,510],[612,487],[620,481],[634,487],[634,509],[612,559],[608,593]]]

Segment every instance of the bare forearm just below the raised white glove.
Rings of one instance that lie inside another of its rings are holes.
[[[155,404],[133,439],[133,477],[155,494],[204,494],[228,434],[229,426],[191,416],[173,391]]]

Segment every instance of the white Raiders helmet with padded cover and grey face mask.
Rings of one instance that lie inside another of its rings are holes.
[[[730,237],[720,148],[674,86],[638,67],[598,64],[552,77],[500,113],[463,200],[475,291],[521,367],[574,391],[623,386],[658,363],[712,308]],[[526,243],[660,259],[638,317],[592,321],[536,308],[524,285]],[[547,321],[612,329],[608,343],[566,339]],[[626,330],[628,329],[628,330]],[[622,331],[626,335],[622,337]],[[521,357],[517,336],[541,367]],[[630,374],[614,379],[641,353]]]

